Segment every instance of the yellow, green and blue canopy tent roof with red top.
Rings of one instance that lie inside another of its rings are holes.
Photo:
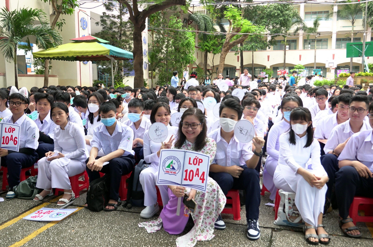
[[[32,55],[34,58],[64,61],[108,61],[109,56],[115,60],[134,59],[132,52],[105,44],[109,41],[91,35],[70,40],[74,42],[34,52]]]

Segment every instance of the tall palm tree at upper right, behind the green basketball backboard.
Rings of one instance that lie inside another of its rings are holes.
[[[351,3],[351,0],[342,1],[338,3]],[[365,6],[365,5],[364,5]],[[341,4],[338,5],[338,10],[336,12],[331,12],[327,16],[327,18],[331,18],[334,15],[337,15],[341,19],[348,19],[351,22],[351,43],[354,42],[354,25],[356,20],[362,15],[363,13],[363,5],[361,3],[354,3],[354,4]],[[363,24],[364,25],[364,24]],[[365,37],[364,37],[365,38]],[[350,58],[350,71],[352,71],[352,57]]]

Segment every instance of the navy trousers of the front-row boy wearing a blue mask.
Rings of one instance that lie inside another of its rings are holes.
[[[101,157],[96,157],[96,160]],[[87,159],[85,164],[88,163]],[[134,170],[135,158],[133,155],[122,156],[119,158],[113,158],[109,161],[109,164],[102,167],[101,171],[91,171],[87,167],[88,177],[90,183],[100,178],[100,172],[108,174],[110,177],[110,199],[118,201],[119,199],[119,186],[122,175],[126,175]]]

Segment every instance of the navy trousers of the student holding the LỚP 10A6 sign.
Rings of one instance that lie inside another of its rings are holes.
[[[14,186],[19,185],[21,182],[21,169],[31,167],[35,164],[38,158],[38,154],[34,152],[33,155],[27,155],[22,153],[10,153],[4,157],[1,157],[1,166],[8,168],[8,184],[9,189],[12,190]],[[6,176],[6,174],[3,174]]]

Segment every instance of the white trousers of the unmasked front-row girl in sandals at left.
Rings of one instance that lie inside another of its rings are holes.
[[[58,158],[47,161],[41,158],[38,161],[38,180],[36,187],[40,189],[58,188],[70,190],[69,177],[85,171],[85,162],[75,159]]]

